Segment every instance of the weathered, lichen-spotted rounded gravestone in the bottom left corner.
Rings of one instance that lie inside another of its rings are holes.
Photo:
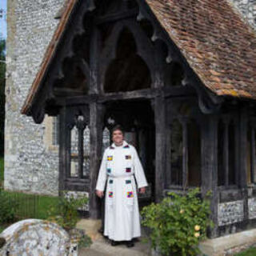
[[[77,256],[78,241],[61,226],[40,219],[25,219],[3,230],[6,242],[0,255]]]

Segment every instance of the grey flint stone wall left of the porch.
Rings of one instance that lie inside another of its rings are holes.
[[[9,0],[6,44],[6,190],[58,194],[58,150],[44,143],[46,122],[20,114],[64,0]]]

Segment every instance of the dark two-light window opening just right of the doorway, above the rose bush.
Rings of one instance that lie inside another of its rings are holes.
[[[201,186],[201,132],[194,118],[170,126],[170,185]],[[167,149],[168,150],[168,149]]]

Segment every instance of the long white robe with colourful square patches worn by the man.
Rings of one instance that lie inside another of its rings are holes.
[[[141,236],[138,188],[148,186],[137,150],[125,140],[122,146],[112,143],[104,151],[96,190],[104,190],[104,235],[115,241]],[[107,184],[107,185],[106,185]]]

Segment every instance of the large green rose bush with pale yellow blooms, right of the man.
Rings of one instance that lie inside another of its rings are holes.
[[[169,192],[162,202],[142,208],[142,225],[150,228],[150,242],[163,255],[194,256],[200,253],[198,242],[206,239],[210,220],[210,195],[199,198],[199,188],[184,196]]]

